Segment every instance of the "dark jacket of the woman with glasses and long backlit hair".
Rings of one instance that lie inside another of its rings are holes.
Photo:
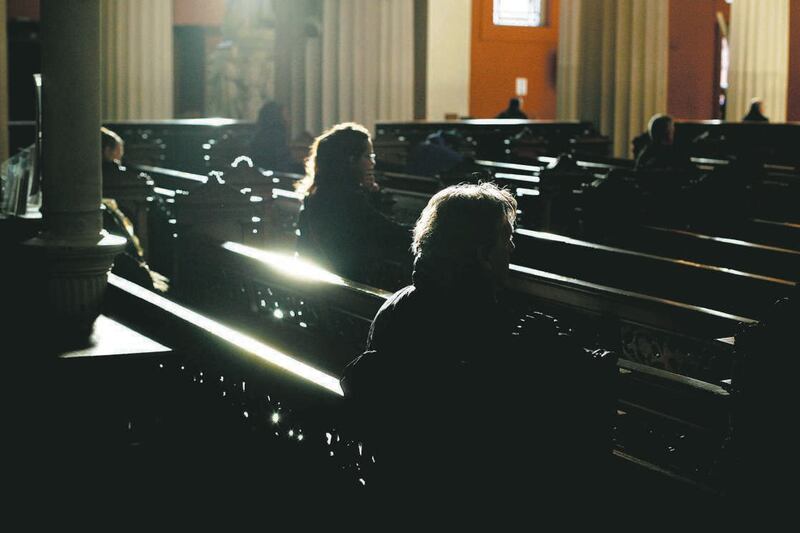
[[[352,281],[373,284],[385,260],[410,264],[408,230],[383,216],[359,190],[322,188],[303,202],[297,252]]]

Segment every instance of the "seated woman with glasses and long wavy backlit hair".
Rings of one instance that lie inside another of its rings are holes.
[[[409,232],[370,203],[375,154],[358,124],[333,126],[317,137],[306,159],[306,194],[297,252],[349,280],[376,284],[384,260],[408,262]]]

